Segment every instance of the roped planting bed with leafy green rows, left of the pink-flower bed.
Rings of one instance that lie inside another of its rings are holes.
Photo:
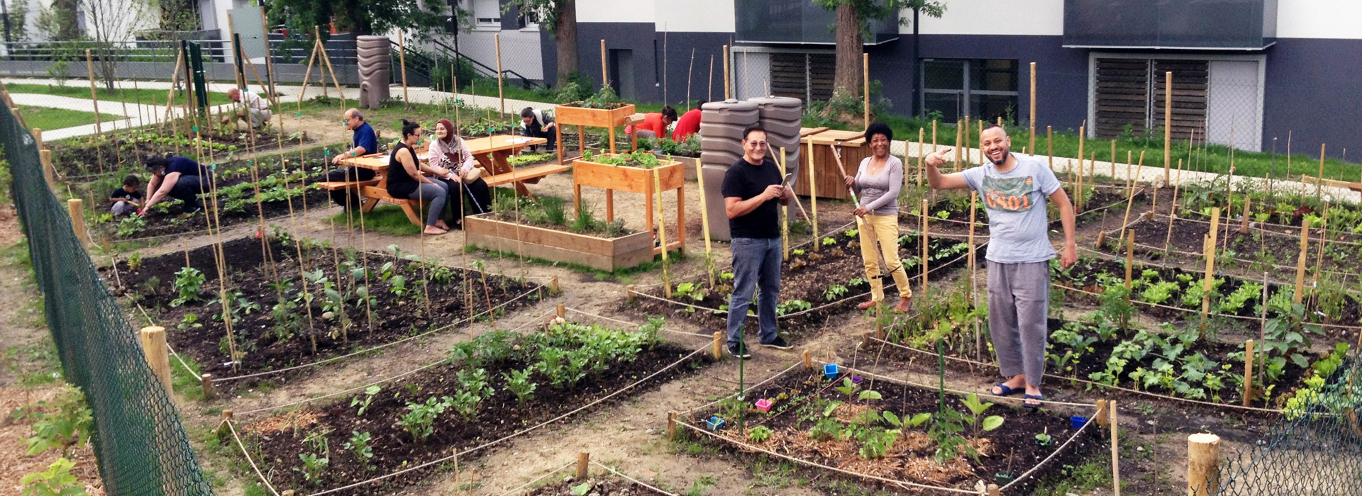
[[[686,361],[646,386],[710,360],[665,344],[661,327],[652,319],[633,332],[558,323],[543,333],[482,334],[449,349],[447,364],[399,383],[249,424],[247,448],[276,486],[309,492],[445,458],[579,409],[678,360]],[[370,495],[418,480],[340,493]]]

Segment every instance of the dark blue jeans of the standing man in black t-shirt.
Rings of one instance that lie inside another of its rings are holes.
[[[775,341],[775,304],[780,295],[780,238],[733,238],[733,295],[729,296],[729,344],[741,340],[752,292],[757,294],[757,338]]]

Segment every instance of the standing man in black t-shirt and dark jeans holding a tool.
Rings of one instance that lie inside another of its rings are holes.
[[[723,175],[723,209],[733,234],[733,294],[729,296],[729,353],[752,356],[742,340],[748,306],[757,287],[757,338],[763,347],[790,349],[775,330],[780,294],[780,222],[776,205],[787,205],[794,192],[782,185],[780,169],[767,154],[760,125],[742,130],[742,159]]]

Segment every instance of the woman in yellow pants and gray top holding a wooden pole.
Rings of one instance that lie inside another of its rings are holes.
[[[864,310],[884,302],[884,281],[880,279],[884,270],[893,276],[893,284],[899,289],[899,304],[893,310],[907,311],[913,306],[913,288],[903,262],[899,261],[899,188],[903,185],[903,162],[889,155],[893,130],[884,122],[870,124],[865,129],[865,139],[870,141],[874,155],[861,160],[854,177],[846,177],[847,186],[858,190],[861,197],[855,208],[855,223],[861,232],[865,277],[870,281],[870,300],[857,307]],[[876,241],[887,266],[880,266],[880,257],[874,253]]]

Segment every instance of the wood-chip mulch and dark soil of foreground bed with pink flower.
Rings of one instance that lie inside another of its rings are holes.
[[[936,416],[941,395],[936,390],[918,389],[881,379],[873,383],[873,389],[883,395],[883,400],[849,400],[847,395],[832,387],[842,385],[846,376],[849,375],[839,376],[834,383],[827,380],[821,372],[791,371],[748,394],[748,398],[776,400],[770,416],[756,409],[749,409],[746,413],[748,432],[756,425],[763,425],[772,431],[768,439],[753,442],[748,435],[740,435],[735,428],[737,423],[730,419],[725,419],[725,428],[719,432],[729,439],[737,439],[779,454],[843,470],[963,489],[972,489],[978,480],[1004,485],[1007,480],[1000,480],[997,477],[998,473],[1011,470],[1013,476],[1022,474],[1039,463],[1045,457],[1049,457],[1060,444],[1076,433],[1076,429],[1071,428],[1069,419],[1045,413],[1045,410],[1030,410],[996,404],[986,409],[979,419],[982,421],[985,416],[1001,416],[1004,419],[1001,427],[994,431],[979,432],[978,438],[972,438],[974,432],[968,425],[962,432],[963,436],[971,439],[970,446],[978,451],[978,458],[967,455],[962,448],[959,455],[947,457],[940,463],[933,459],[937,444],[929,439],[928,429],[934,420],[928,420],[918,427],[904,425],[900,436],[885,451],[883,458],[866,459],[858,454],[862,443],[857,439],[839,440],[834,438],[816,440],[809,436],[813,425],[825,419],[823,416],[824,405],[828,405],[825,401],[844,401],[844,404],[831,410],[829,417],[836,419],[842,424],[849,424],[866,410],[888,410],[904,420],[917,413],[933,413]],[[865,390],[872,385],[869,380],[862,380],[859,386]],[[809,398],[820,398],[821,402],[810,404],[812,400]],[[968,416],[970,410],[964,408],[960,400],[960,397],[953,394],[945,394],[945,408]],[[981,401],[987,402],[989,398],[983,397]],[[804,405],[813,406],[805,410]],[[750,402],[748,408],[750,408]],[[722,413],[722,408],[710,409],[696,416],[695,421],[700,423],[697,425],[703,428],[703,419],[714,414],[723,416],[725,413]],[[877,425],[888,427],[884,420],[880,420]],[[1039,444],[1035,435],[1042,432],[1053,438],[1051,444]],[[1092,440],[1100,439],[1099,432],[1095,427],[1090,427],[1087,431]],[[692,433],[692,436],[695,435]],[[1084,453],[1090,451],[1091,446],[1092,443],[1088,442],[1076,442],[1041,469],[1036,476],[1057,473],[1065,463],[1080,459]]]

